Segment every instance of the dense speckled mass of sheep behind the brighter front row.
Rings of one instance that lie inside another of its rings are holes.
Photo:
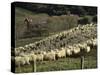
[[[78,26],[24,46],[26,53],[36,50],[54,50],[97,38],[95,24]]]

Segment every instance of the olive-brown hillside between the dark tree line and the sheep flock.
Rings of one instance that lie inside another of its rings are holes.
[[[27,31],[27,25],[24,23],[24,19],[28,16],[32,18],[32,25],[29,31]],[[77,16],[49,16],[19,7],[15,8],[16,47],[24,46],[76,26]]]

